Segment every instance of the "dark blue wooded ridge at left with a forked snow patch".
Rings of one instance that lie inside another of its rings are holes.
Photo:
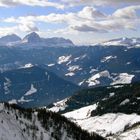
[[[26,65],[1,73],[1,101],[23,107],[39,107],[63,99],[78,86],[39,66]]]

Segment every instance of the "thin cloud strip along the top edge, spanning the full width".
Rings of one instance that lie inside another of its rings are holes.
[[[58,2],[53,2],[53,0],[0,0],[1,7],[11,7],[19,5],[27,6],[41,6],[41,7],[56,7],[63,9],[68,6],[76,5],[118,5],[118,4],[139,4],[139,0],[58,0]]]

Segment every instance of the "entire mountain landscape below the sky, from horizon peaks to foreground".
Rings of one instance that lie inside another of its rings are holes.
[[[0,104],[1,139],[139,139],[138,38],[92,46],[36,33],[0,40],[0,101],[8,102]]]

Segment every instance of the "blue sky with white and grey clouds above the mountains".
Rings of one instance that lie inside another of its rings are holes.
[[[0,36],[31,32],[80,45],[140,37],[140,0],[0,0]]]

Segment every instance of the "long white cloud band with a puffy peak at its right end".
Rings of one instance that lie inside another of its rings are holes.
[[[51,13],[49,15],[40,15],[40,16],[25,16],[25,17],[10,17],[3,19],[4,22],[12,23],[23,23],[28,21],[41,21],[41,22],[53,22],[53,23],[62,23],[66,22],[68,24],[79,24],[81,22],[86,22],[88,20],[98,20],[105,18],[106,15],[94,7],[86,6],[81,11],[77,13],[67,13],[67,14],[56,14]]]

